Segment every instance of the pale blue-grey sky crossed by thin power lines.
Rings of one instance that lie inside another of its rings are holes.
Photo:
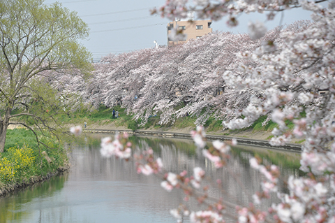
[[[46,4],[56,0],[45,0]],[[101,57],[122,52],[131,52],[144,48],[154,48],[154,41],[159,45],[167,44],[166,25],[170,22],[160,15],[150,15],[151,8],[160,8],[164,0],[58,0],[89,24],[89,38],[82,43],[93,53],[94,62]],[[192,1],[192,0],[191,0]],[[306,10],[287,10],[283,14],[282,24],[296,20],[308,20],[310,13]],[[239,26],[231,29],[225,26],[226,18],[213,22],[213,31],[232,31],[246,33],[248,21],[265,22],[264,14],[252,13],[239,17]],[[271,22],[265,22],[268,29],[281,24],[281,13]]]

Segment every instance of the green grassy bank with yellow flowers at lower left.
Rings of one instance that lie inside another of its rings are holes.
[[[50,178],[68,169],[68,156],[52,137],[42,137],[47,147],[36,143],[26,129],[8,129],[5,152],[0,154],[0,195]]]

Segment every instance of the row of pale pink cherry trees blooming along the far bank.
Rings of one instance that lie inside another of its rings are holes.
[[[87,99],[98,98],[97,102],[91,101],[95,106],[121,102],[142,124],[151,115],[159,114],[163,124],[186,113],[204,123],[215,110],[225,108],[224,101],[232,94],[237,99],[250,96],[249,92],[230,91],[232,88],[225,85],[219,72],[232,69],[232,64],[239,61],[234,57],[236,52],[256,45],[260,43],[246,34],[216,33],[177,47],[109,55],[96,64]],[[231,101],[237,102],[236,98]],[[177,106],[181,109],[176,110]],[[203,108],[207,112],[202,113]],[[226,115],[218,113],[216,117],[223,120]]]

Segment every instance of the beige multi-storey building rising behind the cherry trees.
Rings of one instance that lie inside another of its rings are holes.
[[[186,38],[184,41],[172,41],[169,38],[169,34],[175,27],[178,27],[179,30],[183,31],[183,34],[186,34]],[[168,45],[186,43],[191,38],[193,39],[200,38],[201,36],[204,36],[212,32],[211,20],[193,20],[193,21],[176,20],[174,22],[169,22],[167,29],[168,29]]]

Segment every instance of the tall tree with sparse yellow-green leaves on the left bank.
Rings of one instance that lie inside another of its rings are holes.
[[[66,105],[53,82],[61,82],[67,75],[85,78],[93,65],[91,53],[80,43],[89,35],[88,25],[61,3],[46,6],[40,0],[2,0],[0,15],[3,152],[3,129],[10,119],[43,128],[57,126],[54,117],[63,113]]]

